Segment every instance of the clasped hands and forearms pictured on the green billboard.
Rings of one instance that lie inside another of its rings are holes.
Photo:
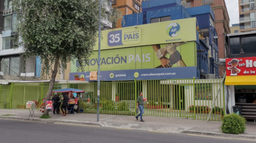
[[[186,66],[179,51],[177,51],[176,48],[183,44],[185,43],[167,44],[164,48],[161,48],[159,44],[152,45],[154,51],[156,52],[156,57],[161,61],[162,68],[170,68],[173,64],[176,63],[178,67]],[[169,59],[165,57],[167,53],[170,54]],[[158,66],[157,68],[161,68],[161,66]]]

